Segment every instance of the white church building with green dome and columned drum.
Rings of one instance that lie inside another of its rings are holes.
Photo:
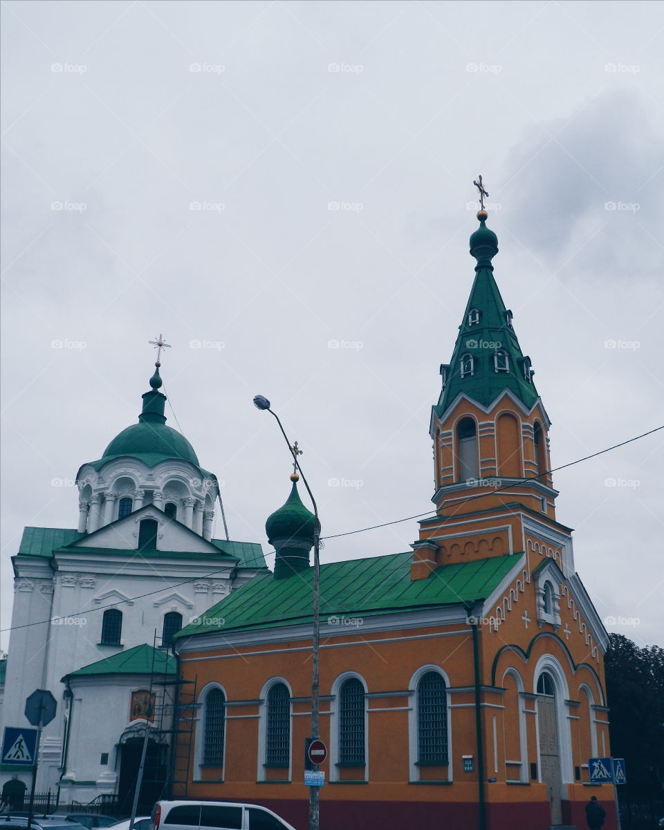
[[[166,426],[156,367],[138,423],[78,471],[76,529],[27,527],[12,558],[2,726],[29,727],[27,696],[52,691],[37,791],[59,789],[60,804],[116,796],[129,813],[146,723],[146,796],[159,797],[178,687],[170,639],[266,568],[260,544],[212,538],[219,484]],[[0,787],[14,774],[29,786],[30,769],[4,761]]]

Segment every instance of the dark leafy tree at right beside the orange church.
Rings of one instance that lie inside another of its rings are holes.
[[[664,648],[611,634],[605,656],[611,753],[624,758],[635,795],[664,793]]]

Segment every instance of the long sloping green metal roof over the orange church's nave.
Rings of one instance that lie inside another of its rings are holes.
[[[321,618],[366,617],[484,599],[520,554],[441,565],[426,579],[411,579],[413,554],[351,559],[321,566]],[[286,579],[258,575],[190,623],[176,637],[272,628],[312,622],[313,569]],[[223,624],[205,620],[224,620]]]

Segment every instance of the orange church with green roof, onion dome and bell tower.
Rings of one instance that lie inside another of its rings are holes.
[[[549,420],[494,280],[478,214],[475,281],[433,407],[435,515],[412,551],[321,566],[321,830],[616,827],[607,632],[558,523]],[[174,798],[263,803],[307,826],[314,520],[297,481],[258,574],[176,637],[195,681]]]

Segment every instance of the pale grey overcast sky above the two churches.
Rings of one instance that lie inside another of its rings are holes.
[[[22,527],[76,527],[76,471],[136,421],[160,332],[232,539],[267,553],[290,486],[257,393],[323,535],[430,510],[479,173],[553,466],[664,422],[661,3],[7,0],[2,24],[2,627]],[[639,645],[664,644],[663,442],[553,476]]]

